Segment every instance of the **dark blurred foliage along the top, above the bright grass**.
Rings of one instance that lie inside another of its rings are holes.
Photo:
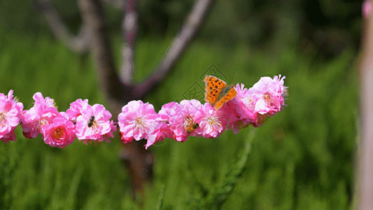
[[[0,26],[37,36],[49,33],[36,0],[0,1]],[[75,0],[53,1],[66,25],[76,32],[81,20]],[[194,1],[139,1],[139,38],[174,36]],[[301,50],[319,50],[321,57],[339,55],[357,48],[361,28],[362,1],[281,0],[216,1],[199,39],[235,47],[281,49],[296,45]],[[113,34],[120,35],[122,13],[105,5]]]

